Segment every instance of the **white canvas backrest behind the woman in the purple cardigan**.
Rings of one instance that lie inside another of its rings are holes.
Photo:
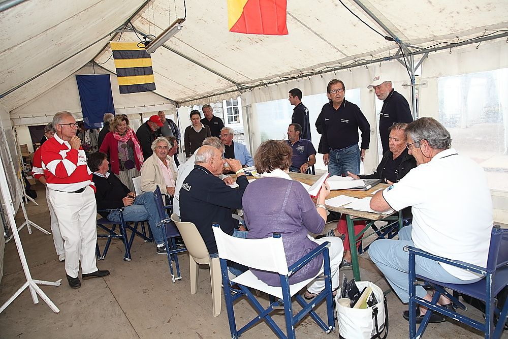
[[[284,245],[279,234],[264,239],[235,238],[212,224],[219,258],[228,259],[250,268],[288,274]]]

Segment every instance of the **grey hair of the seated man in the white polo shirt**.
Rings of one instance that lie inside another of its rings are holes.
[[[439,121],[430,117],[410,122],[406,127],[406,135],[415,142],[425,139],[434,149],[448,149],[452,146],[450,132]]]

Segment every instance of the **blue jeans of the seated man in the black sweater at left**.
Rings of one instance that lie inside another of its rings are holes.
[[[109,221],[120,221],[120,212],[113,211],[108,214]],[[156,244],[164,243],[164,235],[161,226],[161,219],[158,215],[155,199],[153,199],[153,192],[146,192],[138,195],[134,199],[134,204],[126,206],[123,209],[123,220],[130,221],[144,221],[148,220],[148,225],[153,234],[153,239]]]

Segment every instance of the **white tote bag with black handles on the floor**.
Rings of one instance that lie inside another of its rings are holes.
[[[352,309],[338,303],[340,289],[335,298],[339,334],[345,339],[385,339],[388,335],[388,307],[383,291],[371,282],[357,282],[360,291],[371,287],[378,303],[366,309]],[[385,332],[385,334],[382,334]]]

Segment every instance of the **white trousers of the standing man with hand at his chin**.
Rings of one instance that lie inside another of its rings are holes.
[[[97,271],[97,205],[93,189],[87,187],[81,193],[49,190],[49,201],[64,241],[67,274],[77,278],[80,261],[81,273]]]

